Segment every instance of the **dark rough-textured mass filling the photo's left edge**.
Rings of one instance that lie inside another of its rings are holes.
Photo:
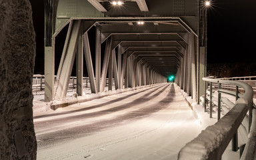
[[[0,0],[0,159],[36,159],[34,59],[29,0]]]

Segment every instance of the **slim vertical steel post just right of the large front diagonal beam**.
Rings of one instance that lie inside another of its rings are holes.
[[[82,29],[77,41],[77,95],[83,95],[83,38]]]

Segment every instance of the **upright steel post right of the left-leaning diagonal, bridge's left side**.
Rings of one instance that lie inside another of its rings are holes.
[[[95,33],[95,78],[97,92],[101,91],[101,26],[96,26]]]

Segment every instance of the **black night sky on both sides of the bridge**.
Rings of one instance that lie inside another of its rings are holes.
[[[43,1],[30,0],[37,41],[35,73],[43,74]],[[212,0],[208,12],[207,63],[256,63],[256,1]]]

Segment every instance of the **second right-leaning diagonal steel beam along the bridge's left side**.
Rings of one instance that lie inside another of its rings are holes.
[[[105,55],[104,55],[102,71],[101,71],[101,92],[103,92],[105,89],[107,66],[109,65],[109,57],[112,52],[111,46],[112,46],[112,40],[111,40],[111,37],[109,37],[109,39],[107,39],[107,45],[105,49]]]

